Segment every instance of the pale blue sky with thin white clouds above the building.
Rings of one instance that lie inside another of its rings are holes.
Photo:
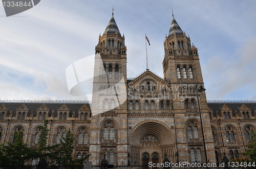
[[[41,0],[6,17],[0,5],[0,99],[83,100],[65,70],[94,54],[112,6],[127,46],[127,77],[149,68],[163,77],[163,41],[174,16],[198,48],[207,100],[256,100],[256,1]]]

